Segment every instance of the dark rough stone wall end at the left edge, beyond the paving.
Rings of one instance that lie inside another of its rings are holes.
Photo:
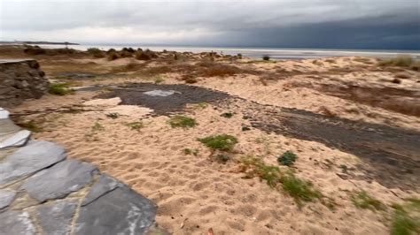
[[[39,99],[49,82],[35,60],[0,60],[0,107],[19,105],[26,99]]]

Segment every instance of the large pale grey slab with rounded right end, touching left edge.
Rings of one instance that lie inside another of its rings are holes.
[[[0,162],[0,186],[41,171],[66,158],[66,150],[49,141],[30,141]]]

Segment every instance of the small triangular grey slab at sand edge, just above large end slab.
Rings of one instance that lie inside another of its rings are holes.
[[[82,201],[82,206],[97,200],[97,198],[100,196],[114,190],[119,186],[123,186],[123,184],[117,181],[115,178],[112,178],[106,174],[100,175],[100,177],[97,179],[97,182],[95,182],[95,184],[90,188],[89,193]]]

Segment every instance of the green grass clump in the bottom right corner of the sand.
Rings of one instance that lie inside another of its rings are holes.
[[[393,205],[391,234],[410,235],[420,233],[420,200],[408,199],[403,205]]]

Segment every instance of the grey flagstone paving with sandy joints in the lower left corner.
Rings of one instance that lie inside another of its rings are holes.
[[[0,109],[0,234],[167,234],[152,201],[21,131]]]

